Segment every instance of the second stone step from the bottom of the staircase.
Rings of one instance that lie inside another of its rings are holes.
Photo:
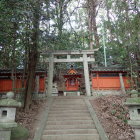
[[[96,129],[45,130],[43,135],[98,134]]]

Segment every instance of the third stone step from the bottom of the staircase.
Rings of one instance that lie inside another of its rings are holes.
[[[95,129],[94,124],[79,124],[79,125],[46,125],[45,130],[60,130],[60,129]]]

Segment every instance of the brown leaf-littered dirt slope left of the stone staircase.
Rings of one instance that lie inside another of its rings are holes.
[[[25,112],[23,109],[17,109],[16,122],[29,130],[28,140],[33,140],[35,128],[40,121],[40,114],[46,107],[46,100],[34,100],[29,112]]]

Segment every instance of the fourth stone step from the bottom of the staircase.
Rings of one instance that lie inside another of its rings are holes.
[[[47,125],[79,125],[79,124],[93,124],[93,121],[92,120],[47,121]]]

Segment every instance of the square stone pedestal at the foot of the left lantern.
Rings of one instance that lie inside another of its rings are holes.
[[[11,131],[10,130],[0,130],[0,140],[10,140]]]

